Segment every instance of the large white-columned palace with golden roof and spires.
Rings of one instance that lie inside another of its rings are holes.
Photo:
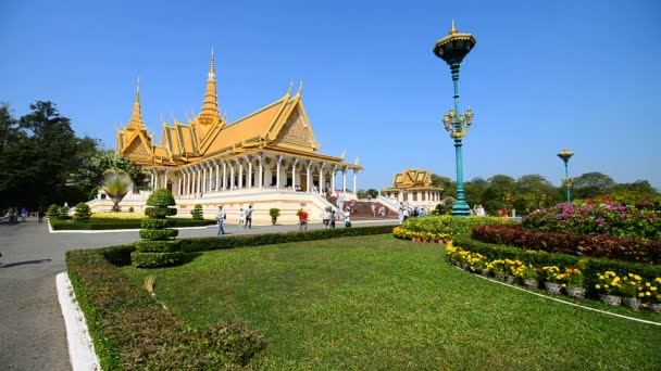
[[[358,158],[350,164],[344,154],[319,152],[301,92],[302,84],[296,93],[290,86],[275,102],[228,123],[219,110],[212,51],[199,115],[186,121],[163,121],[155,143],[142,123],[138,85],[130,119],[117,130],[115,152],[149,171],[152,189],[170,190],[182,217],[195,204],[202,204],[207,217],[214,216],[219,205],[229,213],[228,219],[233,212],[238,215],[239,208],[252,205],[255,222],[271,220],[267,213],[272,207],[280,208],[278,220],[284,222],[295,222],[299,208],[316,219],[332,206],[327,193],[356,197],[357,175],[363,167]],[[352,191],[347,187],[349,170]],[[121,207],[140,210],[149,194],[129,194]],[[92,209],[112,206],[103,199],[100,195],[90,202]]]

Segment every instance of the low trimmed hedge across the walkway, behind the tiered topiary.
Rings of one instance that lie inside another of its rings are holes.
[[[139,229],[144,219],[91,218],[89,220],[59,220],[49,218],[53,230],[103,230],[103,229]],[[173,227],[204,227],[215,223],[215,220],[166,219],[174,220]]]

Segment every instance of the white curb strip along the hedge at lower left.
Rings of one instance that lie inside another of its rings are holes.
[[[62,317],[66,327],[68,358],[74,371],[101,370],[95,345],[89,337],[85,315],[78,306],[76,294],[68,280],[68,274],[62,272],[55,277],[58,300],[62,308]]]

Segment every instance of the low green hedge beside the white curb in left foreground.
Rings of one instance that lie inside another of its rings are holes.
[[[68,277],[102,369],[235,369],[264,348],[263,337],[240,321],[190,329],[104,258],[125,248],[66,253]]]

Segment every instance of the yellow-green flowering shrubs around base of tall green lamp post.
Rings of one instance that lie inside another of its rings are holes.
[[[409,218],[401,228],[413,232],[446,233],[452,236],[471,235],[474,226],[512,225],[507,218],[498,217],[465,217],[457,218],[449,215]]]

